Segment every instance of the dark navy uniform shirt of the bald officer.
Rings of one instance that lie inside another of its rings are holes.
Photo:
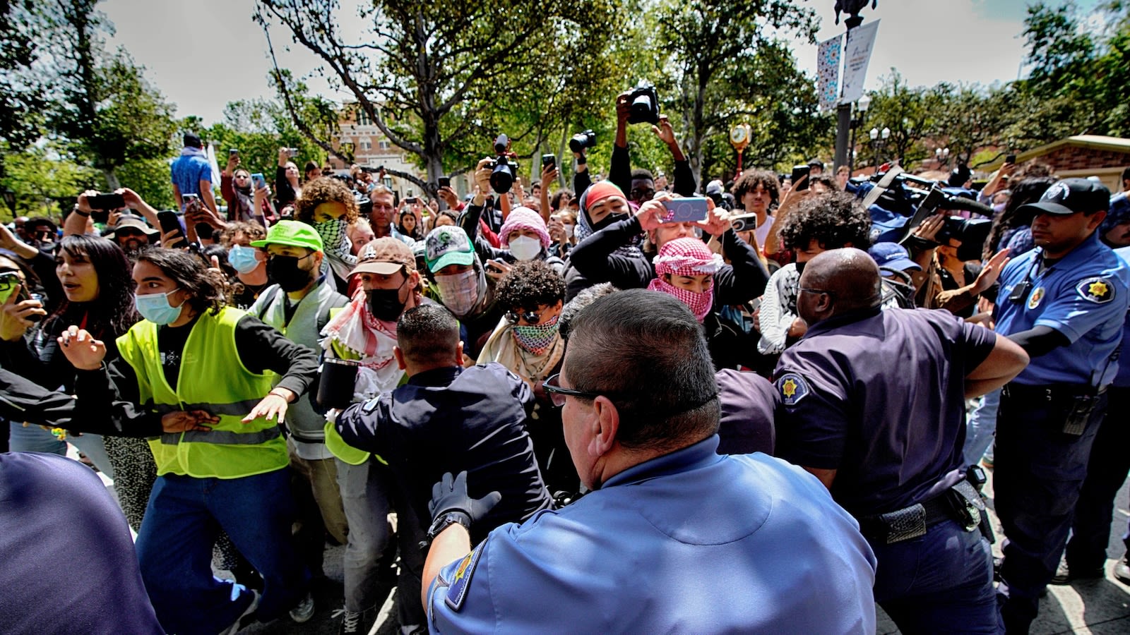
[[[962,478],[965,375],[996,334],[948,311],[879,308],[819,322],[785,349],[776,454],[837,470],[832,495],[857,517],[940,495]]]

